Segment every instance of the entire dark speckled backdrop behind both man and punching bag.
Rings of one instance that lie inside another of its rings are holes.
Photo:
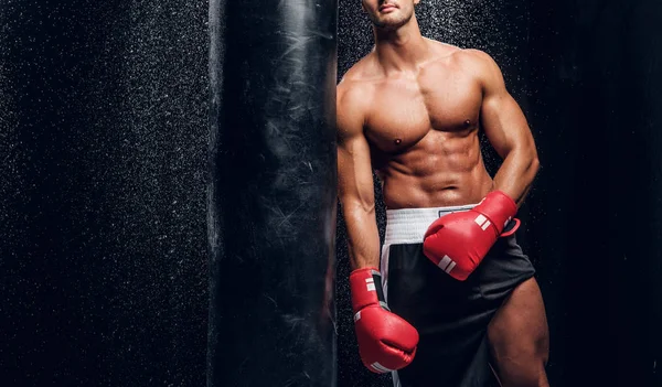
[[[417,13],[425,35],[496,60],[536,139],[519,239],[553,385],[662,386],[662,4],[423,0]],[[359,0],[339,17],[340,76],[371,32]],[[0,4],[3,385],[204,384],[206,25],[206,2]],[[386,386],[357,359],[343,236],[339,385]]]

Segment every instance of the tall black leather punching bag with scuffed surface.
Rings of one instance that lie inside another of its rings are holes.
[[[207,386],[334,386],[337,1],[210,2]]]

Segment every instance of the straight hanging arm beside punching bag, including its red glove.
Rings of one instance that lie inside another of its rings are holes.
[[[386,307],[380,267],[380,234],[370,147],[363,135],[366,98],[360,89],[338,87],[338,180],[348,225],[350,292],[359,354],[367,369],[385,374],[412,363],[418,332]]]

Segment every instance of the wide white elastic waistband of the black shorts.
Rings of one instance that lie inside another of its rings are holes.
[[[433,222],[444,215],[468,211],[476,204],[451,207],[386,209],[386,237],[384,245],[420,244]]]

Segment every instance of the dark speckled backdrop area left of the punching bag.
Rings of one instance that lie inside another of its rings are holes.
[[[0,7],[3,383],[202,385],[206,2]]]

